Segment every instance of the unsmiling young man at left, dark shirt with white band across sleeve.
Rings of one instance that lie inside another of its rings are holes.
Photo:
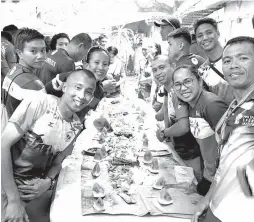
[[[34,29],[20,29],[15,39],[19,63],[7,74],[3,82],[3,97],[8,115],[11,116],[20,102],[32,96],[27,90],[41,90],[44,85],[36,76],[45,62],[44,36]]]

